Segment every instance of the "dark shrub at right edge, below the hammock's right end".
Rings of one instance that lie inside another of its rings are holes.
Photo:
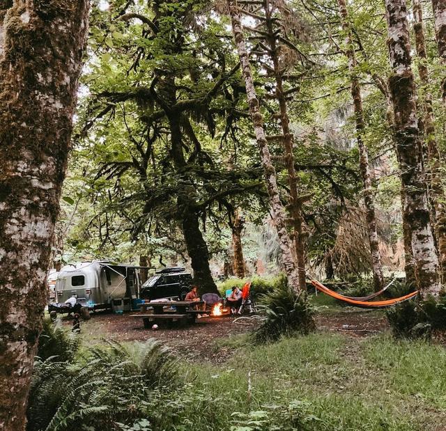
[[[432,296],[401,302],[387,310],[394,336],[430,338],[432,331],[446,329],[446,297]]]

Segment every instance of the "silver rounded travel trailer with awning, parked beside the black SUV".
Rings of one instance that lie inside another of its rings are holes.
[[[57,276],[56,302],[74,295],[89,310],[130,310],[139,298],[139,268],[99,260],[66,265]]]

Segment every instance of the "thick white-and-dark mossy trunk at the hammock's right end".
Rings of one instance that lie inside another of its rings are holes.
[[[415,84],[410,68],[406,0],[385,0],[392,75],[389,88],[395,118],[395,142],[405,190],[403,211],[410,226],[417,287],[438,295],[438,257],[433,241],[426,183],[422,169],[420,131],[415,108]]]

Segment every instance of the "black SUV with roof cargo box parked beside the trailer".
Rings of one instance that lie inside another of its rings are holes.
[[[185,268],[164,268],[141,286],[141,299],[180,298],[184,299],[192,288],[192,275]]]

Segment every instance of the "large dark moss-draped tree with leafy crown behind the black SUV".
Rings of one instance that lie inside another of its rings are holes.
[[[98,17],[106,30],[94,35],[100,68],[86,77],[93,95],[84,134],[94,141],[98,180],[118,180],[115,203],[139,207],[135,230],[148,231],[154,218],[176,224],[200,292],[217,292],[206,222],[230,213],[233,196],[264,191],[249,157],[234,156],[227,168],[243,146],[238,129],[247,114],[238,61],[205,6],[159,0],[139,13],[128,5],[111,26],[109,16]]]

